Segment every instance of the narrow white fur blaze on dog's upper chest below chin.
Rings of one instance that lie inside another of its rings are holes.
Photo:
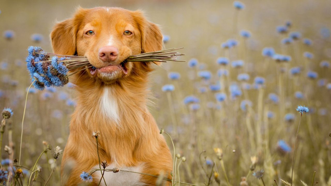
[[[118,103],[109,87],[105,87],[103,90],[100,108],[104,116],[118,123]]]

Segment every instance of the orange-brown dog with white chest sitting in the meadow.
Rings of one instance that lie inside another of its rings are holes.
[[[78,185],[80,174],[99,169],[100,161],[129,170],[171,179],[172,158],[165,138],[148,111],[148,74],[157,62],[124,62],[131,55],[159,51],[160,28],[141,11],[122,8],[78,8],[74,16],[56,23],[51,32],[54,53],[87,57],[94,66],[70,76],[77,105],[61,163],[63,185]],[[69,175],[66,164],[74,162]],[[157,177],[119,171],[104,173],[108,186],[156,185]],[[92,174],[98,185],[101,172]],[[167,185],[169,182],[167,181]]]

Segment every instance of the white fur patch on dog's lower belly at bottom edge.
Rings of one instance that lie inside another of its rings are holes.
[[[107,168],[111,169],[114,167],[116,167],[115,163],[112,163]],[[99,165],[96,165],[95,167],[93,167],[93,169],[99,169]],[[133,172],[141,172],[142,165],[134,166],[134,167],[120,167],[119,169],[129,170]],[[140,182],[141,174],[133,173],[133,172],[119,171],[114,173],[112,171],[109,171],[104,173],[104,178],[107,183],[107,186],[122,186],[122,185],[143,186],[144,183]],[[93,179],[97,179],[100,181],[101,175],[102,174],[100,171],[96,171],[92,176]],[[105,186],[104,180],[101,180],[100,185]]]

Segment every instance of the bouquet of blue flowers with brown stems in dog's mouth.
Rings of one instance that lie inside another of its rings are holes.
[[[125,62],[167,62],[178,61],[176,58],[185,54],[173,52],[182,48],[172,48],[148,52],[128,57]],[[83,56],[59,55],[45,52],[42,48],[29,46],[26,67],[30,72],[31,82],[38,90],[50,86],[64,86],[69,76],[81,70],[93,68]],[[183,61],[179,61],[183,62]],[[69,73],[73,71],[72,73]]]

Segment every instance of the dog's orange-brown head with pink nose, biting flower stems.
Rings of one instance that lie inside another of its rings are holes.
[[[150,62],[124,60],[162,49],[159,27],[142,12],[121,8],[79,8],[73,18],[55,25],[51,40],[56,54],[87,57],[94,67],[80,75],[105,84],[129,78],[139,70],[149,71]]]

